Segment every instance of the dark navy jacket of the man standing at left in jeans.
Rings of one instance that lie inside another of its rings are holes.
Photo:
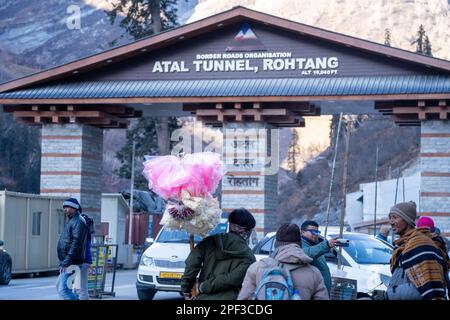
[[[61,267],[83,264],[86,254],[87,228],[77,211],[69,216],[59,237],[58,259]]]

